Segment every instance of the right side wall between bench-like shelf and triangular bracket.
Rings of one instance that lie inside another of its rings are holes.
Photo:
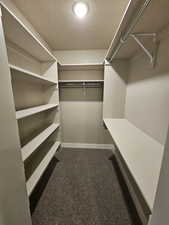
[[[159,48],[157,65],[146,56],[131,61],[125,117],[164,145],[169,124],[169,38]]]

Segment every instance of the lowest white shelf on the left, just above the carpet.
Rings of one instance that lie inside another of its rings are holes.
[[[35,169],[34,173],[28,179],[28,181],[26,183],[28,196],[31,195],[31,193],[32,193],[33,189],[35,188],[36,184],[38,183],[38,181],[42,177],[44,171],[46,170],[50,161],[54,157],[55,152],[57,151],[59,145],[60,145],[60,142],[55,142],[55,144],[51,147],[51,149],[45,155],[43,160],[40,162],[38,167]]]

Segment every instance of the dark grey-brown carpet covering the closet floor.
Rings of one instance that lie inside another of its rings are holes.
[[[140,224],[111,151],[64,149],[50,167],[31,197],[35,207],[41,193],[33,225]]]

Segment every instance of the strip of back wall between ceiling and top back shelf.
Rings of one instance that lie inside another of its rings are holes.
[[[106,49],[55,51],[54,55],[61,64],[103,63]]]

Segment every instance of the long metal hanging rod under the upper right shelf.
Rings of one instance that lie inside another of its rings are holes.
[[[144,11],[146,10],[146,8],[148,7],[148,5],[151,3],[152,0],[144,0],[142,1],[142,4],[139,6],[139,9],[137,7],[137,12],[133,13],[133,20],[132,23],[130,24],[130,26],[128,27],[127,31],[123,34],[123,32],[121,32],[121,37],[119,38],[119,42],[117,43],[117,45],[113,46],[114,41],[112,42],[110,48],[109,48],[109,53],[107,54],[107,60],[112,62],[112,60],[114,59],[114,57],[117,55],[117,53],[119,52],[119,50],[121,49],[122,45],[127,41],[127,39],[130,37],[130,35],[132,34],[135,26],[137,25],[137,23],[139,22],[140,18],[142,17]],[[120,27],[125,19],[125,17],[127,17],[127,12],[129,9],[131,9],[133,6],[133,0],[130,0],[130,3],[127,7],[127,10],[123,16],[122,22],[120,24]],[[141,2],[141,1],[140,1]],[[119,27],[119,29],[120,29]],[[110,55],[110,56],[109,56]]]

